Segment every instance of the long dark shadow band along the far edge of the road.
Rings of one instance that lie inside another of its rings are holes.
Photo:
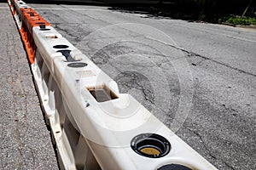
[[[0,2],[1,1],[3,0],[0,0]],[[129,0],[24,0],[25,3],[107,6],[108,9],[112,11],[130,14],[142,14],[142,18],[152,18],[155,20],[187,20],[189,22],[208,23],[222,23],[225,18],[230,17],[230,14],[241,15],[243,9],[247,6],[247,3],[236,1],[235,3],[231,3],[233,8],[230,8],[230,1],[232,0],[227,0],[226,2],[216,1],[218,3],[215,5],[212,5],[212,3],[207,3],[204,6],[201,6],[193,3],[192,1],[184,0],[148,1],[150,3],[129,3],[131,2]],[[251,12],[252,17],[256,16],[256,13],[254,13],[255,8],[256,1],[252,3],[249,8],[250,10],[248,10],[253,11]]]

